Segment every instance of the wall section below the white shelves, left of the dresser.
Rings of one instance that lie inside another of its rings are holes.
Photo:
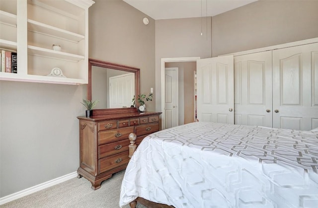
[[[85,85],[0,81],[0,197],[75,172]]]

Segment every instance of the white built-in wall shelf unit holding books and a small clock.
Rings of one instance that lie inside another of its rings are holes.
[[[16,51],[17,73],[0,80],[88,83],[88,8],[92,0],[0,1],[0,48]],[[52,45],[61,51],[52,50]],[[60,68],[67,77],[47,76]]]

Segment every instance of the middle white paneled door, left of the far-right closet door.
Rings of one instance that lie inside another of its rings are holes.
[[[272,52],[234,57],[234,121],[272,127]]]

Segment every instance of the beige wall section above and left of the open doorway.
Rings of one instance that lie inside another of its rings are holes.
[[[211,17],[203,20],[202,36],[201,18],[156,20],[157,111],[161,111],[161,58],[211,57]]]

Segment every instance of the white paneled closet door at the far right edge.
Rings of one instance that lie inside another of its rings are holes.
[[[273,51],[273,127],[318,127],[318,43]]]

